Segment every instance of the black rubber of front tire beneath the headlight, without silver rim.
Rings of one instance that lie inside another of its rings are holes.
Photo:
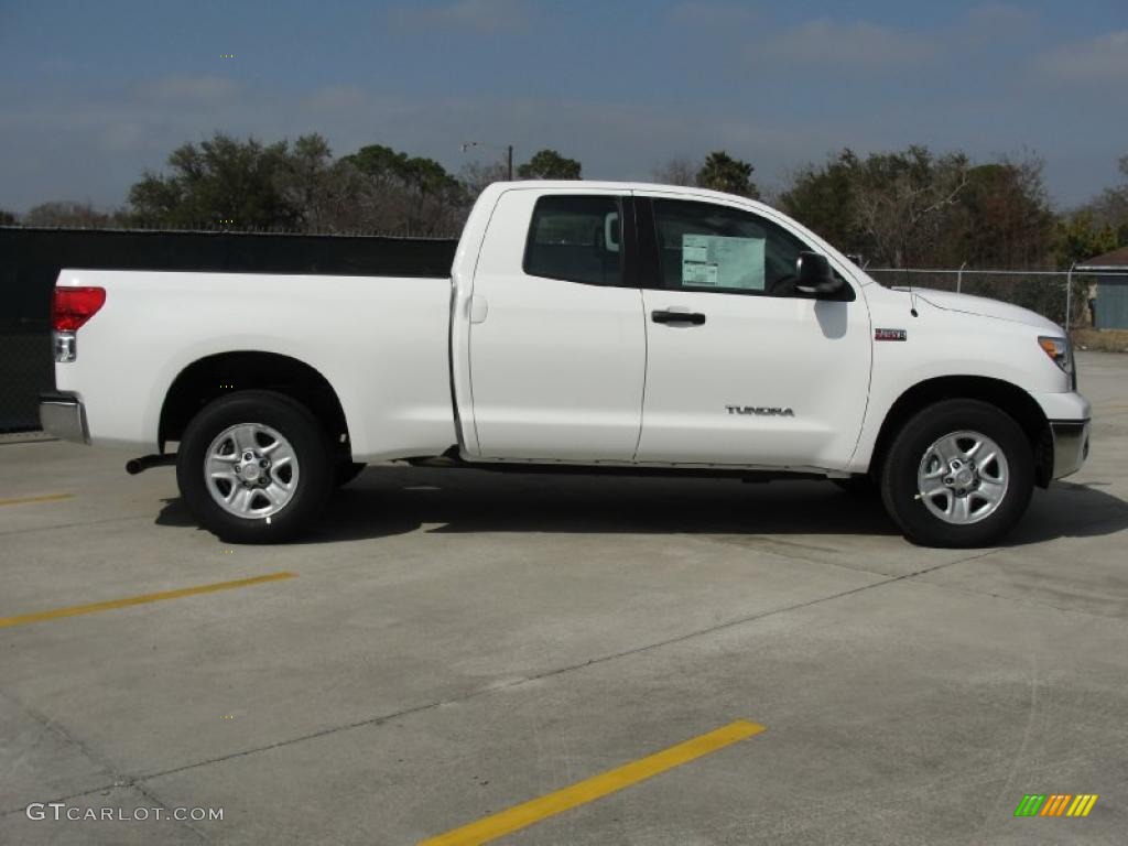
[[[977,522],[960,525],[946,522],[928,509],[918,495],[917,474],[932,444],[962,431],[979,432],[995,441],[1006,459],[1007,484],[994,511]],[[1033,485],[1034,456],[1026,435],[1010,415],[977,399],[945,399],[918,412],[893,440],[881,470],[885,510],[905,537],[920,546],[994,545],[1025,513]]]

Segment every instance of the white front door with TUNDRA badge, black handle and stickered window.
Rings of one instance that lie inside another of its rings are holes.
[[[760,214],[656,193],[637,211],[652,261],[636,460],[844,467],[870,386],[865,300],[795,290],[810,247]]]

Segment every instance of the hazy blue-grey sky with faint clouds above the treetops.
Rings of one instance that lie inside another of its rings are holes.
[[[0,0],[0,209],[116,208],[215,131],[606,179],[724,149],[769,190],[844,147],[1033,152],[1069,208],[1128,153],[1128,0]]]

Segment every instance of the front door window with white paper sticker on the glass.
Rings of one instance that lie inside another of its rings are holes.
[[[810,249],[750,212],[684,200],[654,200],[663,288],[796,296],[795,261]]]

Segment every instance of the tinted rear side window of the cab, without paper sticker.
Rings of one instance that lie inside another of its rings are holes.
[[[617,197],[540,197],[529,224],[525,272],[593,285],[622,283],[619,217]]]

